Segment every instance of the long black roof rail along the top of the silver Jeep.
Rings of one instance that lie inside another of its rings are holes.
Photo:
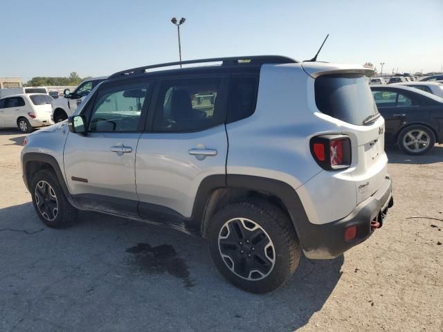
[[[134,75],[145,73],[147,69],[161,68],[169,66],[179,66],[180,64],[203,64],[206,62],[222,62],[222,66],[238,65],[238,64],[295,64],[298,61],[291,57],[283,57],[282,55],[253,55],[244,57],[214,57],[210,59],[195,59],[177,62],[168,62],[165,64],[152,64],[150,66],[143,66],[137,68],[126,69],[125,71],[118,71],[108,77],[109,79],[122,77],[126,75]]]

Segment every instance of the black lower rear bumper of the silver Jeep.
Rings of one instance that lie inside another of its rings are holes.
[[[323,225],[309,223],[307,229],[300,230],[305,255],[310,259],[330,259],[341,255],[371,236],[374,232],[372,221],[383,225],[383,218],[393,204],[392,182],[386,176],[379,190],[357,205],[345,218]],[[356,228],[356,235],[352,240],[346,241],[345,231],[353,227]]]

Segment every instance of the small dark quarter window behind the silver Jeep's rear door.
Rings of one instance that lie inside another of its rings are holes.
[[[258,77],[232,77],[228,95],[228,123],[248,118],[257,104]]]

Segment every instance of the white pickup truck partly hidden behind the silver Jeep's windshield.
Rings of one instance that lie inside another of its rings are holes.
[[[51,115],[53,121],[62,122],[71,116],[91,90],[104,80],[106,77],[91,77],[81,82],[73,93],[69,89],[65,89],[62,98],[53,100]]]

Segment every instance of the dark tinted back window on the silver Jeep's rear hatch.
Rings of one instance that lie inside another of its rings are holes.
[[[363,124],[378,114],[365,75],[323,75],[315,82],[317,108],[328,116]]]

